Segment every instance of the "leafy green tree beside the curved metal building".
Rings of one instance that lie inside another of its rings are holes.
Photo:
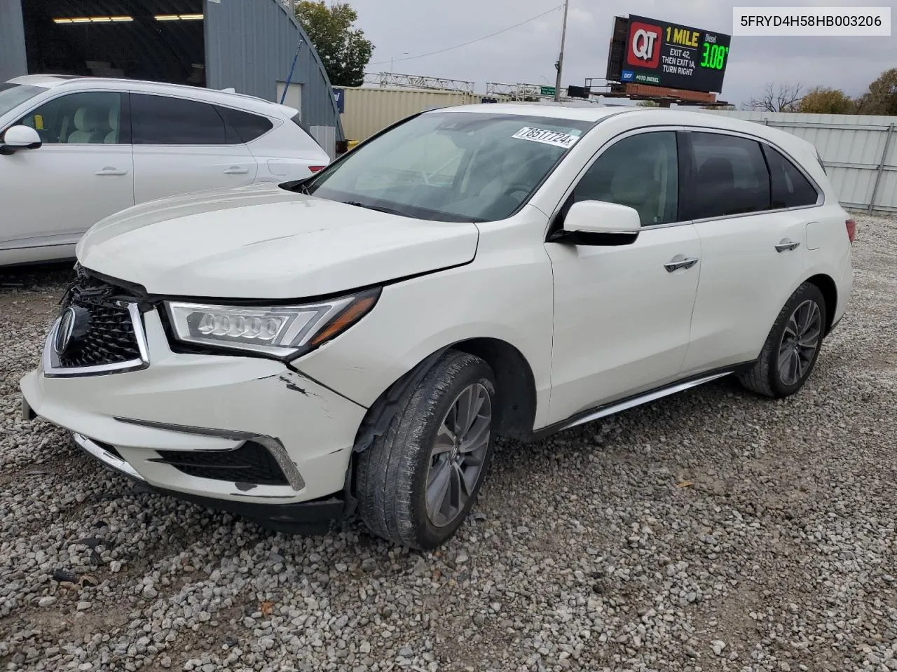
[[[352,5],[336,2],[328,7],[323,0],[302,0],[296,4],[296,19],[309,34],[330,83],[361,86],[374,46],[364,37],[363,30],[353,29],[358,13]]]

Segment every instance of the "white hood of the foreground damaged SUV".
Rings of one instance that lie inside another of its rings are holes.
[[[189,297],[316,297],[468,263],[479,229],[251,185],[147,202],[95,224],[84,268]]]

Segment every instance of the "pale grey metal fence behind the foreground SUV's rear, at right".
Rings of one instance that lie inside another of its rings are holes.
[[[842,205],[897,211],[897,116],[703,111],[770,125],[813,142]]]

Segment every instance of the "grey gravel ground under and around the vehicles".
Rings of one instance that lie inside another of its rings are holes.
[[[897,669],[897,220],[805,390],[724,379],[504,443],[418,554],[274,535],[22,423],[65,267],[0,272],[0,669]]]

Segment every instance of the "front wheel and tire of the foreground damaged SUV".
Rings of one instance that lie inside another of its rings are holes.
[[[379,537],[427,550],[455,534],[483,484],[494,443],[492,369],[448,350],[398,406],[358,457],[359,513]]]

